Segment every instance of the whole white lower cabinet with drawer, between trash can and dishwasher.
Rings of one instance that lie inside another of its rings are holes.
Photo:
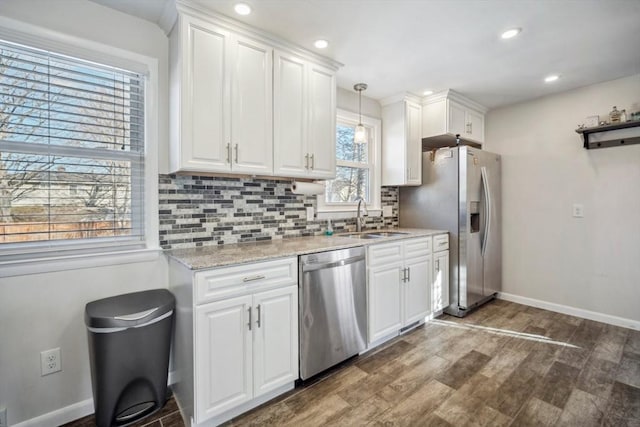
[[[192,270],[170,259],[174,395],[185,425],[219,425],[298,379],[298,257]]]

